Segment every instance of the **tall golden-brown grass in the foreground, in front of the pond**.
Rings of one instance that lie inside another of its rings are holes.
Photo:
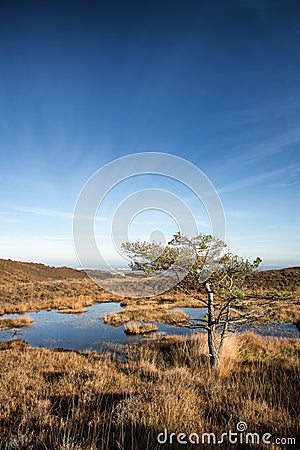
[[[132,344],[120,350],[123,359],[22,341],[0,349],[1,449],[285,448],[159,446],[157,434],[220,437],[239,421],[256,433],[299,432],[297,339],[230,337],[218,374],[209,370],[201,335]]]

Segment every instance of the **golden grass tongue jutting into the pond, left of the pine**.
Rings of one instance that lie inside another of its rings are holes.
[[[175,325],[187,323],[188,316],[180,310],[170,311],[165,306],[146,305],[134,308],[127,307],[124,311],[110,313],[103,318],[104,323],[117,327],[132,321]]]

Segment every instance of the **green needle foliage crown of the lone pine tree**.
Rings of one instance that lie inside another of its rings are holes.
[[[261,263],[260,258],[251,263],[231,253],[220,239],[205,234],[189,238],[177,232],[165,247],[146,241],[125,242],[122,247],[132,259],[133,270],[146,274],[185,270],[179,288],[200,292],[209,281],[219,297],[242,298],[245,276]]]

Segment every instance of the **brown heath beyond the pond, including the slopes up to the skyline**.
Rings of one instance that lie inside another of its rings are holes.
[[[110,301],[122,301],[122,305],[131,309],[143,305],[165,308],[202,307],[201,299],[205,298],[204,293],[189,297],[174,289],[155,298],[132,300],[105,292],[83,272],[16,261],[0,260],[0,274],[0,315],[43,309],[69,309],[72,310],[69,313],[75,313],[74,310],[79,313],[95,302]],[[299,268],[253,274],[248,280],[246,296],[240,301],[238,309],[243,312],[256,311],[257,316],[263,314],[262,322],[299,323],[299,279]],[[115,282],[126,284],[126,277],[114,279]]]

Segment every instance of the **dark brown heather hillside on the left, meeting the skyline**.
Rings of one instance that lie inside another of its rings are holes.
[[[1,282],[65,280],[67,278],[83,279],[86,278],[86,274],[69,267],[51,267],[44,264],[0,259]]]

